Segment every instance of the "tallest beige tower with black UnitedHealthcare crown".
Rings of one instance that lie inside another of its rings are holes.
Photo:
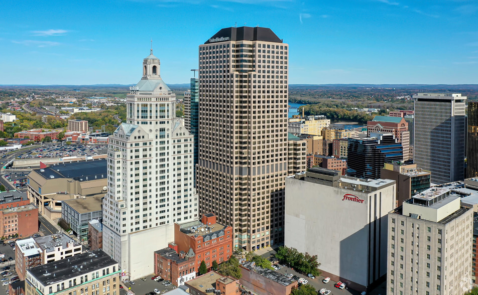
[[[199,211],[247,250],[284,237],[288,52],[268,28],[225,28],[199,46]]]

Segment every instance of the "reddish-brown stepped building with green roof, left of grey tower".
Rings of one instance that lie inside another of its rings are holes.
[[[408,122],[403,117],[375,116],[372,121],[367,122],[367,135],[371,133],[388,132],[402,143],[403,161],[410,158],[410,131],[408,131]]]

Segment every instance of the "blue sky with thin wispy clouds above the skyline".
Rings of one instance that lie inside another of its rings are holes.
[[[289,44],[289,83],[478,84],[477,0],[0,2],[1,84],[135,84],[143,58],[188,83],[198,45],[234,26]]]

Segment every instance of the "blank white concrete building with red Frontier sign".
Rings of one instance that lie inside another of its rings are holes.
[[[344,194],[353,194],[365,201],[342,200]],[[377,200],[381,199],[381,206],[377,208],[375,194]],[[376,269],[380,265],[377,272],[384,275],[387,270],[386,216],[394,204],[395,185],[363,193],[286,178],[285,245],[318,255],[323,271],[367,286],[369,244],[373,249],[374,243],[373,232],[369,243],[369,221],[380,220],[376,232],[381,229],[381,239],[376,236],[375,249],[376,252],[381,249],[383,259],[376,259]],[[370,229],[374,231],[374,226]],[[370,263],[373,263],[372,257]]]

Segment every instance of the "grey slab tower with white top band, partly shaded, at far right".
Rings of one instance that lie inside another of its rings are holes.
[[[415,99],[413,157],[435,184],[463,180],[466,96],[418,93]]]

